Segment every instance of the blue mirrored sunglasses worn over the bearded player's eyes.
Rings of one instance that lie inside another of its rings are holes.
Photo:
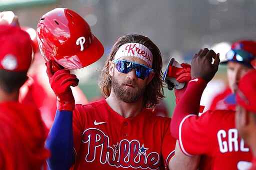
[[[115,68],[121,73],[128,73],[134,68],[136,76],[142,80],[148,76],[149,73],[154,72],[153,69],[148,68],[143,64],[134,63],[126,60],[112,60]]]

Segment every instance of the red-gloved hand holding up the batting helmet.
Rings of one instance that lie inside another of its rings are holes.
[[[51,60],[47,62],[46,66],[50,87],[57,98],[58,110],[72,111],[74,109],[74,97],[70,86],[78,85],[76,76],[70,74],[70,71],[66,69],[61,69],[54,73]]]

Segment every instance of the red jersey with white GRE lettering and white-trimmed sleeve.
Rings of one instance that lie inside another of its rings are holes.
[[[178,134],[182,152],[187,156],[206,155],[212,170],[249,168],[252,154],[235,129],[234,114],[231,110],[215,110],[200,117],[184,117]]]

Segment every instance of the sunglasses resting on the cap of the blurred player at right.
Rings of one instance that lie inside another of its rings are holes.
[[[244,51],[244,50],[239,50],[239,54],[238,54],[234,50],[230,49],[226,53],[226,59],[227,60],[236,60],[236,61],[247,61],[247,62],[249,62],[253,58],[254,58],[254,56],[251,53],[249,53],[247,51]]]

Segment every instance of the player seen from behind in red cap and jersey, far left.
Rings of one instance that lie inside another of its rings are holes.
[[[8,13],[0,12],[0,170],[40,170],[49,155],[46,127],[36,108],[18,103],[31,63],[31,41]]]

